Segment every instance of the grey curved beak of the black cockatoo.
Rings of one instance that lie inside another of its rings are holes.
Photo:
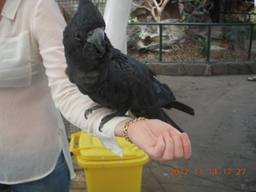
[[[105,32],[102,28],[97,28],[94,30],[94,33],[87,39],[87,42],[90,42],[97,48],[97,57],[101,58],[105,54],[106,43],[105,43]]]

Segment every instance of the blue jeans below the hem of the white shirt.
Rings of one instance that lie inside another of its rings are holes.
[[[70,170],[64,155],[60,154],[54,171],[45,178],[10,186],[0,183],[0,191],[8,189],[12,192],[70,192]]]

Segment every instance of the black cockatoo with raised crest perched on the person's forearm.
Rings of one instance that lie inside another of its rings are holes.
[[[158,118],[182,131],[162,108],[191,115],[194,110],[178,102],[148,66],[115,49],[104,32],[105,26],[94,3],[80,0],[77,13],[63,32],[66,74],[82,94],[99,104],[86,110],[85,116],[102,106],[113,108],[114,112],[102,119],[101,128],[114,116],[130,110],[136,117]]]

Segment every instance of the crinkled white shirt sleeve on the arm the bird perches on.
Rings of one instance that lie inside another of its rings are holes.
[[[65,74],[66,58],[62,45],[62,32],[65,26],[66,22],[54,0],[38,1],[34,12],[33,34],[46,68],[54,103],[69,122],[98,137],[106,148],[122,156],[122,148],[118,146],[114,137],[114,127],[125,118],[113,118],[102,127],[102,131],[99,131],[98,126],[102,118],[111,110],[95,110],[86,119],[84,111],[96,103],[87,95],[81,94]]]

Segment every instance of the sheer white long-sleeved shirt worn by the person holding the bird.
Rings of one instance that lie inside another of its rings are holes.
[[[95,103],[66,77],[62,31],[66,22],[54,0],[7,0],[0,22],[0,183],[30,182],[54,170],[63,150],[74,171],[62,118],[97,136],[122,156],[114,138],[116,117],[98,130],[108,109],[84,111]]]

